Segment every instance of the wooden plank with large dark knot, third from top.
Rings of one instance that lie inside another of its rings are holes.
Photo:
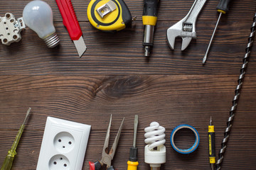
[[[163,125],[189,120],[202,128],[210,115],[215,125],[225,126],[237,78],[237,75],[1,76],[0,129],[17,130],[28,107],[33,108],[28,130],[43,130],[49,115],[90,124],[95,130],[106,128],[110,114],[119,121],[126,117],[129,130],[133,128],[129,124],[133,121],[131,114],[140,115],[142,127],[153,120]],[[255,117],[255,81],[255,74],[245,78],[238,127],[255,128],[255,124],[247,124]],[[105,124],[98,125],[95,120]],[[118,127],[119,123],[113,126]]]

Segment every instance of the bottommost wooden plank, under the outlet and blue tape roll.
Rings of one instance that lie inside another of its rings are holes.
[[[139,123],[141,123],[140,120]],[[114,121],[115,122],[115,121]],[[113,123],[114,123],[113,122]],[[207,123],[202,128],[196,127],[201,137],[201,142],[195,152],[184,155],[176,152],[169,142],[169,135],[173,130],[174,125],[166,125],[166,164],[161,166],[161,169],[209,169],[208,164],[208,145],[207,144]],[[139,125],[138,132],[138,158],[139,169],[149,169],[149,164],[144,163],[144,131],[142,125]],[[113,128],[112,128],[113,129]],[[217,128],[216,130],[216,148],[217,151],[220,148],[220,141],[222,140],[223,128]],[[117,129],[111,131],[110,146],[114,140],[114,135]],[[254,130],[251,128],[233,128],[232,136],[228,144],[227,153],[223,161],[223,169],[255,169],[255,135]],[[16,132],[14,130],[0,130],[0,137],[4,145],[0,145],[0,162],[4,161],[7,149],[11,147],[11,143],[14,140]],[[36,169],[38,162],[38,155],[41,147],[41,140],[43,136],[43,130],[25,130],[21,142],[18,145],[17,157],[14,161],[14,170]],[[87,152],[85,154],[85,161],[83,169],[88,168],[88,162],[95,162],[100,159],[102,147],[105,139],[105,130],[92,130],[90,133],[89,143],[87,145]],[[132,130],[123,130],[119,139],[119,145],[115,154],[112,164],[117,169],[127,169],[127,160],[129,155],[129,147],[132,145]]]

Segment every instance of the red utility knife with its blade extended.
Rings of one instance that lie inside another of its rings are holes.
[[[86,50],[86,45],[82,39],[82,30],[78,23],[78,18],[75,15],[75,11],[71,0],[55,0],[63,17],[63,24],[67,28],[71,40],[73,40],[78,55],[82,57],[82,54]]]

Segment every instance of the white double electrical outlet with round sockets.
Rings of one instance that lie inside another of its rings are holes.
[[[48,117],[36,170],[81,170],[90,128]]]

